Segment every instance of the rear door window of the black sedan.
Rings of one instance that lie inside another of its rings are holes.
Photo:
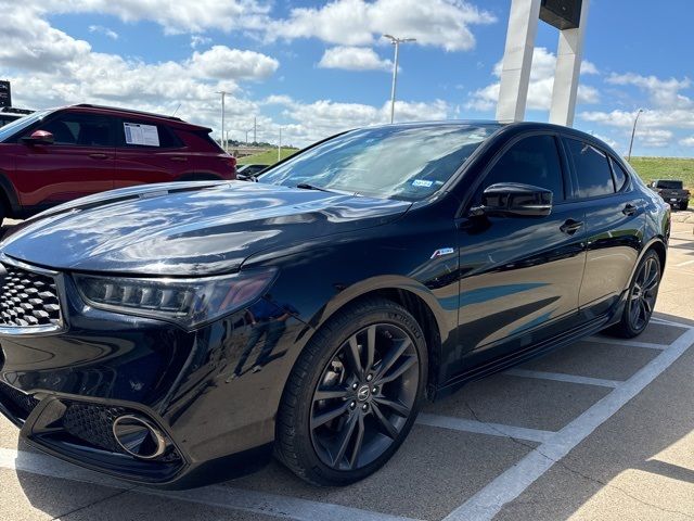
[[[604,152],[578,139],[566,139],[578,177],[578,196],[597,198],[615,193],[612,170]]]

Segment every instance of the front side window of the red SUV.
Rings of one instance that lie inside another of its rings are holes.
[[[53,135],[55,144],[114,147],[111,120],[90,114],[66,113],[38,127]]]

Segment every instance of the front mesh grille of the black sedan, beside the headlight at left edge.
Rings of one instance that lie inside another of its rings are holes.
[[[61,305],[55,279],[4,264],[0,281],[0,326],[60,326]]]

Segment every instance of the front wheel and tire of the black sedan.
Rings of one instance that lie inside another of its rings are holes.
[[[402,306],[370,298],[338,312],[287,380],[278,459],[314,485],[348,485],[374,473],[416,419],[427,364],[422,328]]]

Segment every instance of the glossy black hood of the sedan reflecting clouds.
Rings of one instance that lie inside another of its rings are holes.
[[[383,225],[410,206],[242,181],[150,185],[44,212],[5,237],[0,251],[64,270],[215,275],[260,251]]]

